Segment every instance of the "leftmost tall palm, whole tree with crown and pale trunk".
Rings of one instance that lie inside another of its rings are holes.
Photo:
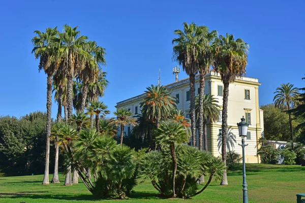
[[[47,28],[45,32],[35,30],[37,36],[32,39],[34,53],[39,61],[39,72],[44,70],[47,74],[47,142],[46,142],[46,165],[42,184],[49,184],[49,157],[50,157],[50,135],[51,135],[51,107],[52,107],[52,77],[56,72],[57,66],[53,62],[56,47],[54,41],[58,35],[57,27]]]

